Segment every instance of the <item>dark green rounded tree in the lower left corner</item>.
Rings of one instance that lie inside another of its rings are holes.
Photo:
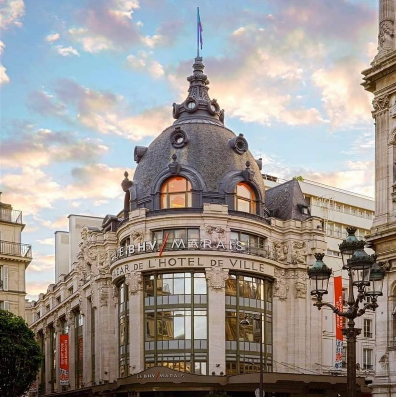
[[[25,320],[7,310],[0,313],[0,355],[1,396],[22,396],[36,380],[41,351]]]

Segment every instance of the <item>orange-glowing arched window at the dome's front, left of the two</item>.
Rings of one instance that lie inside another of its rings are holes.
[[[161,186],[161,208],[191,207],[191,183],[181,176],[166,179]]]

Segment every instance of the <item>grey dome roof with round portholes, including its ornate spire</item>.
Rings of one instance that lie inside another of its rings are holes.
[[[131,192],[136,207],[156,209],[159,204],[153,197],[159,195],[160,183],[177,174],[190,180],[193,192],[201,192],[200,206],[203,202],[230,205],[233,199],[227,195],[234,194],[236,184],[247,181],[255,187],[261,203],[257,214],[266,216],[261,159],[255,160],[249,152],[243,134],[235,135],[224,127],[224,110],[209,98],[209,80],[203,68],[202,58],[195,58],[193,75],[187,78],[188,96],[182,104],[173,104],[174,124],[149,147],[135,147],[138,165],[133,183],[127,186],[125,182],[124,190]]]

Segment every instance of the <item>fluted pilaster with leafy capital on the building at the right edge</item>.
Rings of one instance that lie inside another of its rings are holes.
[[[379,96],[373,100],[375,118],[375,218],[373,225],[387,222],[388,201],[388,132],[389,96]]]

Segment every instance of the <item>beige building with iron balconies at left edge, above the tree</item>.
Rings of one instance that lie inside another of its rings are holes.
[[[32,247],[22,243],[22,211],[0,204],[1,308],[25,319],[25,270],[32,260]]]

